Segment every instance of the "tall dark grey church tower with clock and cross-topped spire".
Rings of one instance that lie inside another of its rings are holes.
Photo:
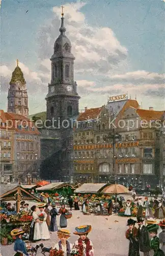
[[[60,35],[51,56],[51,82],[46,96],[47,119],[65,120],[78,115],[77,83],[74,81],[74,56],[71,42],[65,35],[62,9]]]

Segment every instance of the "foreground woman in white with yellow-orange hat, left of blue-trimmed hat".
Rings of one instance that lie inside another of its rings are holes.
[[[57,232],[57,234],[60,241],[53,246],[53,249],[61,249],[64,252],[64,256],[70,256],[70,252],[73,247],[72,244],[68,241],[68,238],[70,238],[70,231],[67,229],[61,229]]]

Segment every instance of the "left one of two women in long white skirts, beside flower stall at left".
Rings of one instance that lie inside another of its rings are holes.
[[[33,236],[33,241],[39,241],[41,240],[41,232],[40,232],[40,220],[39,220],[39,217],[38,217],[38,214],[37,214],[37,207],[34,205],[32,206],[32,210],[33,210],[33,222],[34,222],[34,236]],[[32,225],[33,225],[33,222],[32,222]],[[31,226],[32,226],[31,225]],[[32,227],[33,228],[33,227]],[[32,236],[32,234],[31,234]],[[31,241],[31,240],[30,240]]]

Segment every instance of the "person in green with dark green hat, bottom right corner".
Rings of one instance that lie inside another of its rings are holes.
[[[165,256],[164,252],[159,249],[159,238],[157,235],[157,230],[159,226],[156,224],[151,224],[147,226],[148,232],[150,233],[151,241],[150,241],[150,247],[154,251],[153,256]]]

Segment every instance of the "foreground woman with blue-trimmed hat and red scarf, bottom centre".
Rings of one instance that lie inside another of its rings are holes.
[[[74,234],[78,234],[79,239],[75,241],[75,245],[82,245],[84,248],[84,256],[94,256],[94,247],[92,241],[87,237],[91,231],[91,225],[84,225],[75,228]]]

